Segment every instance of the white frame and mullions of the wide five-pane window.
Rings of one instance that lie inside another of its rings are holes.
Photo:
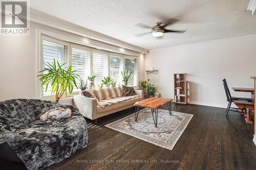
[[[63,37],[65,38],[65,37]],[[65,58],[67,58],[67,65],[70,66],[72,64],[72,47],[78,48],[79,50],[85,50],[85,51],[90,51],[90,75],[92,76],[93,74],[93,53],[100,53],[100,54],[105,54],[108,56],[108,76],[110,76],[110,56],[116,56],[116,57],[122,57],[123,58],[123,71],[125,70],[125,58],[131,58],[131,59],[137,59],[137,64],[136,64],[136,69],[137,69],[137,86],[133,86],[134,88],[138,88],[139,85],[139,55],[138,56],[130,56],[130,55],[125,55],[125,54],[120,54],[120,53],[113,53],[113,52],[107,52],[104,50],[98,50],[93,47],[88,47],[86,45],[81,45],[81,44],[76,44],[73,42],[68,42],[65,40],[60,40],[51,36],[47,36],[45,34],[39,33],[37,35],[37,54],[38,58],[36,59],[36,75],[38,75],[38,72],[43,69],[43,41],[49,41],[61,45],[67,46],[67,54],[65,54]],[[42,100],[54,100],[54,94],[53,95],[47,95],[43,96],[43,90],[44,88],[41,86],[41,82],[39,81],[39,78],[36,78],[36,86],[37,88],[37,98],[42,99]],[[39,92],[38,92],[39,91]],[[79,91],[73,91],[72,93],[68,93],[68,96],[73,96],[78,94]]]

